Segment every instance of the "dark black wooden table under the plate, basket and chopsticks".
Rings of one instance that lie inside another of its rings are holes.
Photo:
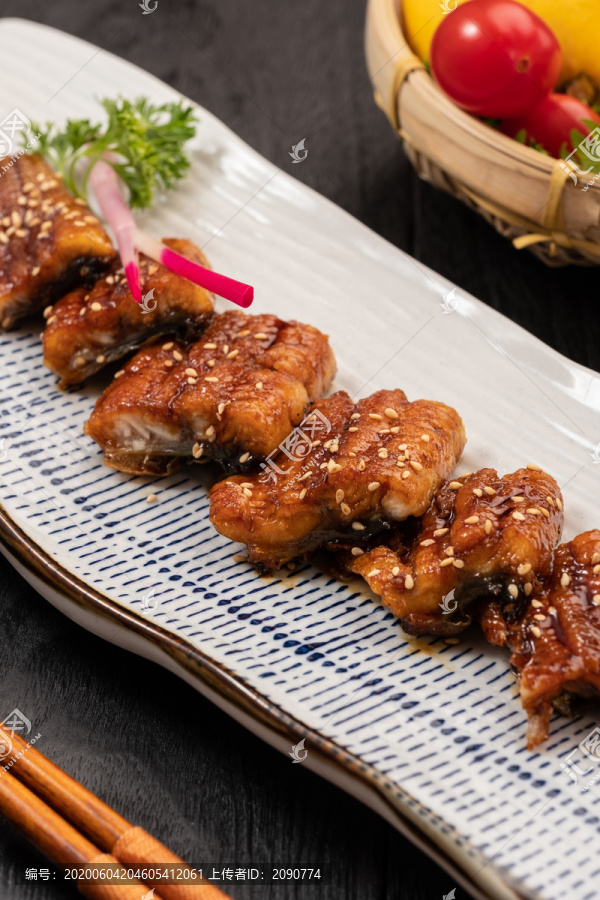
[[[373,103],[364,0],[160,0],[146,16],[137,4],[3,0],[2,13],[148,69],[417,260],[600,368],[597,272],[545,268],[414,175]],[[302,138],[310,156],[293,166]],[[1,559],[0,569],[0,713],[23,710],[43,752],[191,862],[330,867],[329,885],[236,885],[236,900],[441,900],[454,886],[358,802],[292,768],[174,676],[72,624]],[[79,896],[18,883],[41,866],[0,821],[1,896]]]

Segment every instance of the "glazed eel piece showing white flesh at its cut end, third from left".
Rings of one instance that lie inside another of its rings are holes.
[[[194,344],[169,338],[139,350],[84,430],[122,472],[163,474],[186,458],[240,471],[285,440],[334,374],[316,328],[232,310]]]

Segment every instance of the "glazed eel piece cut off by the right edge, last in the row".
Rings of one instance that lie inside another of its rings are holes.
[[[491,643],[511,650],[531,750],[548,738],[553,709],[573,715],[600,698],[600,531],[557,548],[551,577],[520,616],[495,600],[479,620]]]

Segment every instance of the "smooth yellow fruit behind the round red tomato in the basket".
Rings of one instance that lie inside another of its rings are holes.
[[[402,0],[404,31],[414,52],[429,59],[429,46],[440,22],[469,0]],[[562,55],[560,82],[580,72],[600,89],[600,7],[598,0],[518,0],[554,32]]]

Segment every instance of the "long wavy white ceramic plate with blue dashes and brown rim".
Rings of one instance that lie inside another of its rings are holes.
[[[176,97],[39,25],[4,20],[0,39],[0,119],[14,107],[33,120],[97,118],[95,98],[118,93]],[[401,387],[455,406],[469,438],[460,471],[535,461],[563,489],[565,536],[599,525],[600,378],[472,297],[444,300],[451,284],[198,112],[192,172],[144,224],[191,238],[253,284],[256,312],[328,332],[336,388]],[[476,634],[458,646],[408,639],[366,590],[311,568],[258,578],[212,529],[203,470],[148,480],[103,467],[81,430],[102,379],[61,394],[41,358],[37,330],[0,337],[0,528],[40,593],[280,749],[305,736],[307,765],[477,896],[596,896],[600,783],[582,792],[560,768],[593,719],[555,720],[529,753],[506,655]]]

